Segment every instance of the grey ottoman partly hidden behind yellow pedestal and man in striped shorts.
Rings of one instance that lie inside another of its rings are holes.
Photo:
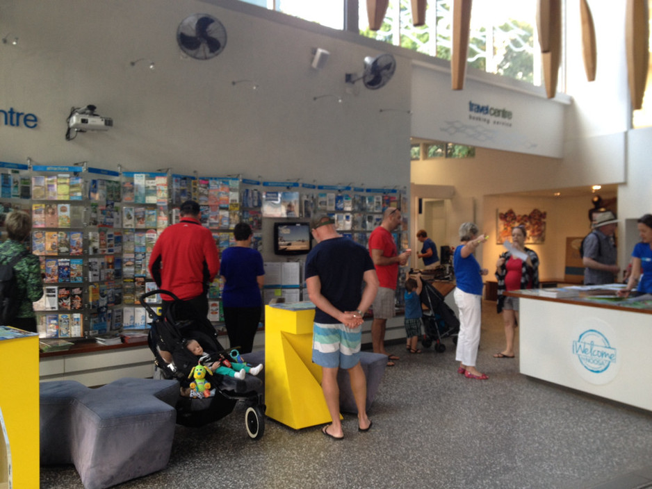
[[[265,363],[265,351],[252,351],[252,353],[243,354],[243,358],[252,364]],[[380,353],[372,353],[371,351],[360,352],[360,364],[367,379],[367,411],[371,408],[371,404],[376,397],[376,392],[380,387],[382,374],[385,372],[387,365],[387,356]],[[259,374],[259,379],[265,381],[265,369]],[[346,370],[339,370],[337,372],[337,383],[340,388],[340,410],[343,413],[358,413],[358,408],[355,405],[353,392],[351,390],[351,382],[349,374]]]

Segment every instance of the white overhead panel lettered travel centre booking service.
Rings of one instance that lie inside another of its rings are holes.
[[[450,74],[414,66],[411,134],[435,141],[562,158],[564,97],[466,79],[451,90]]]

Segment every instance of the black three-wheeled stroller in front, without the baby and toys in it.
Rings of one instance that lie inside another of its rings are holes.
[[[169,295],[174,302],[168,308],[168,314],[158,315],[147,304],[147,297],[156,294]],[[210,365],[218,360],[220,355],[229,358],[231,349],[225,350],[218,341],[218,334],[208,319],[174,320],[174,304],[179,298],[168,290],[152,290],[140,296],[140,304],[145,307],[147,314],[152,319],[147,342],[149,349],[154,353],[154,363],[157,372],[164,379],[179,381],[181,388],[190,386],[188,376],[197,365],[197,356],[186,348],[186,340],[197,340],[205,356],[199,359],[200,363]],[[163,358],[167,356],[168,361]],[[169,352],[172,362],[169,363]],[[234,359],[234,358],[231,358]],[[241,362],[244,363],[244,362]],[[215,395],[211,397],[184,397],[179,398],[177,404],[177,423],[184,426],[204,426],[213,421],[220,420],[231,411],[238,400],[245,401],[245,427],[250,438],[256,440],[263,436],[265,431],[265,405],[263,404],[263,382],[252,375],[238,380],[227,375],[213,374],[209,379],[215,388]]]

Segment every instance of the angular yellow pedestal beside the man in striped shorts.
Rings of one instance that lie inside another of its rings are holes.
[[[312,363],[314,307],[265,306],[265,414],[294,429],[331,421],[321,367]]]

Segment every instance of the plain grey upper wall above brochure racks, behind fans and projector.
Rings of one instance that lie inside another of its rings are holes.
[[[20,42],[2,46],[0,109],[33,113],[39,124],[0,126],[0,160],[407,185],[400,167],[408,167],[409,117],[380,108],[409,109],[409,62],[398,56],[395,76],[380,90],[347,86],[345,73],[361,72],[364,57],[383,44],[361,47],[238,7],[257,9],[234,0],[3,2],[1,31]],[[225,50],[212,60],[180,55],[177,26],[193,13],[214,15],[227,29]],[[314,47],[331,53],[319,71],[310,67]],[[138,58],[155,69],[132,67]],[[241,79],[259,90],[232,85]],[[344,101],[313,100],[323,94]],[[114,128],[65,141],[70,108],[88,103],[113,117]]]

